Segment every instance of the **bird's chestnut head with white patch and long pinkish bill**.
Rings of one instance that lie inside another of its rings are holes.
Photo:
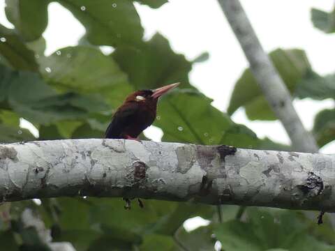
[[[179,83],[169,84],[167,86],[160,87],[154,90],[141,90],[135,91],[135,93],[131,93],[126,98],[126,102],[142,102],[147,104],[156,104],[159,97],[163,94],[167,93],[168,91],[176,88]]]

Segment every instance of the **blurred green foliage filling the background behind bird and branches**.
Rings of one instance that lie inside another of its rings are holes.
[[[276,119],[250,70],[237,82],[228,114],[211,106],[212,100],[189,82],[193,63],[209,58],[204,52],[193,61],[176,54],[157,33],[143,40],[144,29],[131,0],[55,0],[86,29],[79,45],[59,48],[45,56],[42,36],[50,0],[6,0],[6,16],[15,26],[0,24],[0,142],[103,137],[110,118],[128,93],[181,82],[162,98],[155,126],[163,141],[229,144],[253,149],[289,150],[290,146],[259,139],[230,115],[239,107],[249,119]],[[137,0],[150,8],[167,0]],[[35,15],[38,13],[38,15]],[[327,15],[325,15],[327,14]],[[313,10],[318,28],[334,31],[333,14]],[[103,54],[100,46],[113,48]],[[334,75],[313,72],[303,50],[275,50],[270,57],[295,98],[334,98]],[[20,128],[31,122],[38,138]],[[320,146],[335,139],[335,112],[315,118],[313,132]],[[334,229],[292,211],[223,206],[223,223],[213,206],[171,201],[133,201],[124,210],[121,199],[57,198],[0,205],[1,250],[50,250],[34,227],[22,222],[31,208],[51,229],[52,241],[68,241],[76,250],[334,250]],[[193,231],[185,220],[200,216],[209,225]],[[241,217],[240,217],[241,216]],[[270,230],[271,229],[271,230]]]

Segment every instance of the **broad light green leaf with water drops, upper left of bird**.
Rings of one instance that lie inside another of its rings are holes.
[[[94,47],[66,47],[41,59],[40,65],[47,82],[57,89],[98,93],[113,106],[133,91],[117,63]]]

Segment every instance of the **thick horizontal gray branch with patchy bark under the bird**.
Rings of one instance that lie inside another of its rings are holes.
[[[0,145],[0,198],[140,197],[335,211],[335,156],[75,139]]]

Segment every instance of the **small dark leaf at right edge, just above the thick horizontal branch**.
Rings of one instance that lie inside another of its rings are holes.
[[[316,114],[313,134],[320,147],[335,139],[335,109],[324,109]]]

